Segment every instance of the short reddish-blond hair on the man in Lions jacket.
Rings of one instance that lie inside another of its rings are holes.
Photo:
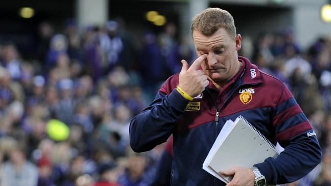
[[[237,35],[233,17],[228,11],[220,8],[207,8],[192,19],[191,34],[197,30],[205,36],[210,36],[219,28],[225,28],[232,38]]]

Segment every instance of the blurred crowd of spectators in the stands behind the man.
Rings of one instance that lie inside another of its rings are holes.
[[[55,32],[42,22],[35,59],[0,43],[0,185],[151,185],[164,144],[129,147],[129,122],[150,103],[181,59],[196,58],[174,23],[133,36],[123,21]],[[291,27],[243,36],[240,55],[279,78],[310,119],[323,162],[294,185],[331,184],[331,39],[308,49]],[[170,178],[170,175],[169,175]]]

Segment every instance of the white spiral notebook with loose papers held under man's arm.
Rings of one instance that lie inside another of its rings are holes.
[[[279,144],[273,145],[251,123],[239,116],[228,120],[218,134],[203,169],[228,183],[232,177],[219,174],[233,166],[252,167],[268,157],[276,157],[284,150]]]

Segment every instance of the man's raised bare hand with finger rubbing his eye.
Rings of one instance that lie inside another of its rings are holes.
[[[183,66],[179,73],[178,86],[186,92],[190,97],[194,98],[208,86],[209,81],[203,70],[198,70],[199,65],[207,58],[207,55],[201,55],[193,64],[188,67],[185,60],[181,60]]]

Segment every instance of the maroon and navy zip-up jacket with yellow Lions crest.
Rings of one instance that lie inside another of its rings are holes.
[[[175,74],[131,120],[130,145],[136,152],[151,150],[173,134],[172,185],[225,185],[202,164],[226,120],[239,115],[274,145],[279,142],[285,148],[277,158],[254,165],[267,183],[295,181],[320,163],[315,132],[286,85],[248,59],[238,59],[242,68],[222,91],[209,83],[201,95],[188,101],[176,90],[179,74]]]

